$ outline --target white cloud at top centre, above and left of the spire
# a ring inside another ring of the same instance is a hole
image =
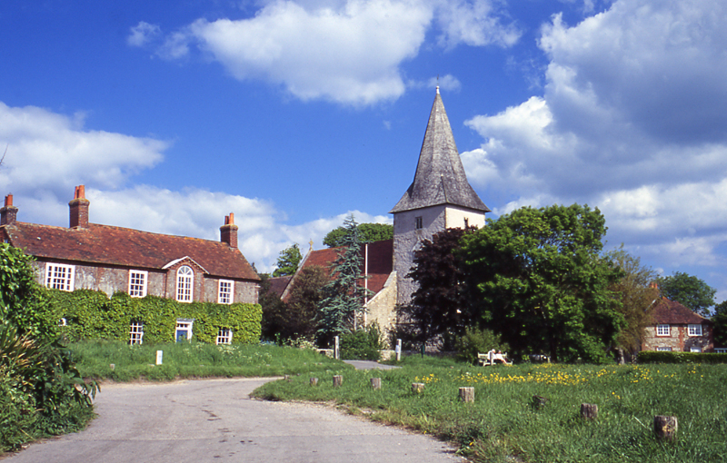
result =
[[[493,5],[489,0],[271,1],[246,19],[198,19],[168,35],[156,54],[178,59],[194,47],[238,80],[281,85],[304,101],[366,105],[403,94],[401,66],[419,53],[434,17],[443,46],[512,45],[520,33],[501,24]],[[134,34],[144,36],[135,28]],[[458,87],[449,77],[443,85]]]

